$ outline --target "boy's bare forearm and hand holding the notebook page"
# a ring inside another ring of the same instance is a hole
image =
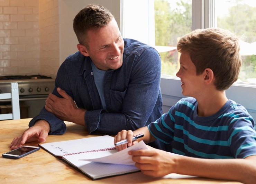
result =
[[[245,159],[199,159],[157,149],[131,151],[129,154],[133,156],[135,166],[146,175],[177,173],[242,183],[256,181],[256,155]]]

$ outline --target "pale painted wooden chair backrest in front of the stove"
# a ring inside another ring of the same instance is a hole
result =
[[[0,94],[0,100],[11,99],[12,113],[0,114],[0,120],[20,119],[19,88],[17,82],[11,83],[11,93]]]

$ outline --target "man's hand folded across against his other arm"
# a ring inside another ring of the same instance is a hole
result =
[[[57,88],[57,91],[63,98],[50,93],[45,101],[45,109],[62,121],[70,121],[85,126],[84,113],[86,110],[78,109],[71,96],[61,88]]]

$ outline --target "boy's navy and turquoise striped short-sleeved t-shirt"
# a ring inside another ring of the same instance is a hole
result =
[[[228,100],[214,115],[197,115],[197,101],[181,99],[158,120],[148,125],[158,140],[172,144],[180,155],[231,159],[256,155],[255,122],[240,104]]]

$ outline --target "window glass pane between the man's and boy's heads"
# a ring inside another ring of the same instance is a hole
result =
[[[177,41],[192,31],[192,0],[155,0],[155,45],[161,55],[162,75],[179,69]]]

